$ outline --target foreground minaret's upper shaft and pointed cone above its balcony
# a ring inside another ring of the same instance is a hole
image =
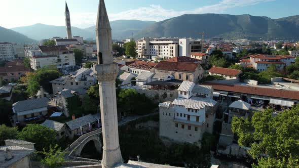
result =
[[[99,0],[95,30],[98,64],[113,64],[111,27],[104,0]]]

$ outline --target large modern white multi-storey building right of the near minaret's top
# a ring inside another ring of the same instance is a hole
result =
[[[141,38],[137,41],[139,58],[165,60],[173,57],[190,57],[193,52],[201,52],[201,41],[192,38]]]

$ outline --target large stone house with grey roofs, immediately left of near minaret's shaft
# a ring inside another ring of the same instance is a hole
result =
[[[52,83],[53,94],[56,94],[64,89],[88,90],[90,86],[95,85],[96,81],[97,80],[92,69],[81,68],[77,71],[71,72],[67,76],[54,79],[50,81],[50,83]]]

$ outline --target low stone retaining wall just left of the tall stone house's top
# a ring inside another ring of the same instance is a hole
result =
[[[172,102],[178,97],[177,90],[136,90],[139,94],[144,94],[146,97],[152,98],[157,102]],[[167,94],[167,97],[163,100],[162,95]],[[159,99],[157,97],[159,96]]]

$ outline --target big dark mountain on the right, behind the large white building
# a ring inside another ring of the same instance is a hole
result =
[[[299,16],[280,19],[251,15],[193,14],[174,17],[143,29],[134,35],[147,37],[197,37],[226,39],[299,39]]]

